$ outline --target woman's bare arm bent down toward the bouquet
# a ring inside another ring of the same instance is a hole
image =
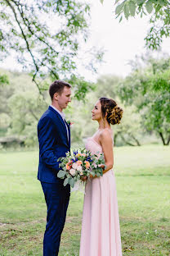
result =
[[[114,151],[113,151],[113,143],[112,143],[112,138],[110,136],[110,131],[103,130],[99,137],[99,141],[101,143],[101,147],[105,157],[106,168],[103,171],[103,173],[105,173],[114,166]]]

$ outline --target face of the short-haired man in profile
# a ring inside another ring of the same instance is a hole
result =
[[[71,102],[71,88],[65,86],[61,94],[57,94],[58,105],[61,109],[67,107]]]

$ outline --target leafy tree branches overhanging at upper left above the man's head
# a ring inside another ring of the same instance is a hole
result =
[[[1,60],[11,51],[16,53],[40,93],[47,89],[47,83],[42,83],[47,77],[70,79],[76,73],[78,43],[87,40],[89,11],[86,3],[75,0],[2,0]],[[93,55],[101,60],[101,52]]]

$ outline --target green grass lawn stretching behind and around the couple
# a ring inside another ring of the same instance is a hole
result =
[[[123,256],[170,255],[170,147],[114,149]],[[0,256],[42,256],[38,152],[0,153]],[[60,256],[78,256],[83,194],[71,194]]]

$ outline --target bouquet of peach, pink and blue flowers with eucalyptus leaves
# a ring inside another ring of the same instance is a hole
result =
[[[58,158],[57,161],[62,168],[57,176],[65,180],[64,185],[69,184],[72,188],[77,181],[82,181],[82,177],[103,176],[101,165],[105,166],[105,159],[102,153],[92,154],[86,149],[78,149],[66,153],[65,157]]]

